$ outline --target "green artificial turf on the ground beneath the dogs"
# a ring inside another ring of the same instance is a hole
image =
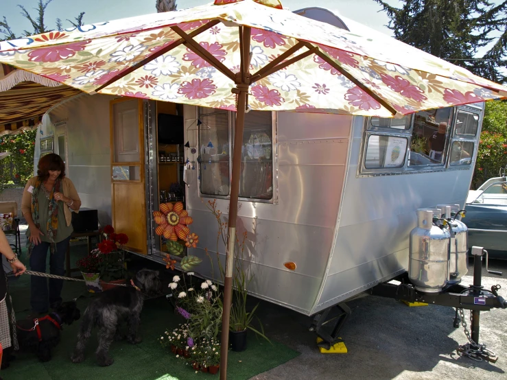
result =
[[[72,248],[72,259],[82,255],[82,247]],[[12,281],[10,291],[16,316],[24,318],[30,308],[30,278],[23,275]],[[84,283],[66,281],[62,292],[64,300],[78,298],[78,307],[84,312],[93,294],[87,293]],[[143,342],[137,345],[126,341],[113,342],[110,356],[115,363],[106,368],[97,366],[95,349],[97,348],[96,330],[86,347],[86,359],[81,364],[73,364],[69,359],[75,346],[78,323],[64,326],[62,341],[53,351],[53,359],[40,363],[34,355],[16,354],[10,368],[2,370],[5,380],[15,379],[145,379],[145,380],[182,380],[182,379],[218,379],[218,375],[198,372],[185,364],[185,359],[176,358],[169,348],[163,348],[158,339],[167,329],[174,329],[182,322],[174,314],[165,298],[155,298],[145,302],[141,314],[141,335]],[[278,343],[257,339],[253,333],[248,336],[248,348],[242,353],[229,351],[228,379],[241,380],[270,370],[293,359],[299,353]]]

